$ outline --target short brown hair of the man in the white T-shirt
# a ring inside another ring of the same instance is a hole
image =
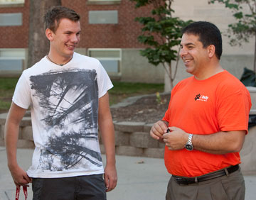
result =
[[[54,6],[48,10],[43,17],[45,29],[49,28],[50,30],[53,30],[53,33],[55,33],[60,24],[60,19],[62,18],[68,18],[71,21],[80,20],[79,14],[72,9],[68,9],[64,6]]]

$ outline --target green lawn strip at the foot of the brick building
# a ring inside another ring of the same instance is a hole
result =
[[[11,97],[18,78],[0,78],[0,110],[7,111],[11,106]],[[129,96],[153,94],[164,91],[164,84],[113,82],[110,89],[110,105],[117,104]]]

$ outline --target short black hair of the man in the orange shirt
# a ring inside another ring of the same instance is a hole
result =
[[[215,55],[220,60],[223,49],[221,33],[217,26],[207,21],[197,21],[183,28],[182,34],[184,33],[198,35],[199,41],[203,43],[203,48],[214,45]]]

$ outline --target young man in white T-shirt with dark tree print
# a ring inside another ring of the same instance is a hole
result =
[[[78,13],[56,6],[44,19],[49,53],[21,75],[6,120],[9,170],[16,187],[32,182],[35,200],[106,199],[106,191],[117,184],[107,93],[112,82],[98,60],[74,52],[80,40]],[[28,106],[36,148],[32,165],[24,172],[16,160],[16,143]],[[98,124],[106,150],[105,170]]]

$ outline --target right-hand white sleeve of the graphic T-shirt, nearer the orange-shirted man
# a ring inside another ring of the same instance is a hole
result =
[[[99,98],[104,96],[109,89],[113,87],[113,84],[108,76],[106,70],[99,61],[99,72],[97,77],[97,84],[99,87]]]

